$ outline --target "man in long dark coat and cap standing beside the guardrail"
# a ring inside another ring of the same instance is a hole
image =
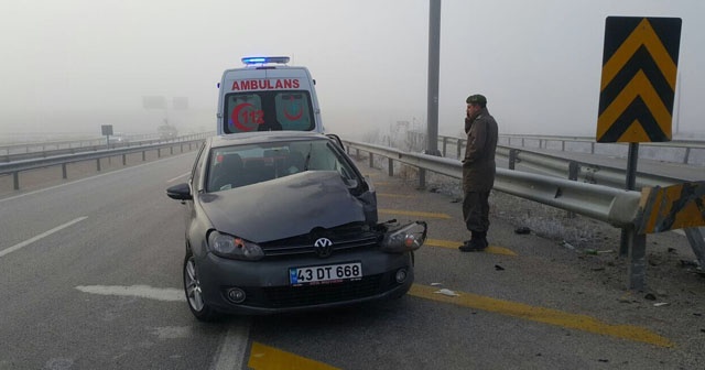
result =
[[[463,159],[463,218],[473,233],[458,249],[463,252],[487,248],[489,229],[489,192],[495,185],[495,150],[497,149],[497,121],[487,110],[487,98],[470,95],[466,100],[465,133],[467,146]]]

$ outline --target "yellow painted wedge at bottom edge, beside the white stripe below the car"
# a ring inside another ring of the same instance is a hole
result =
[[[264,369],[310,369],[310,370],[335,370],[329,364],[318,362],[299,355],[290,353],[273,347],[264,346],[260,342],[252,342],[250,349],[250,360],[248,367],[254,370]]]

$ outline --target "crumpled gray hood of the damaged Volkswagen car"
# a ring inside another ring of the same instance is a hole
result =
[[[365,221],[365,206],[334,171],[308,171],[198,196],[218,230],[265,242]]]

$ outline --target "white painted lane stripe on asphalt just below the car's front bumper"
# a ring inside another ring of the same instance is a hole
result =
[[[210,367],[213,370],[242,369],[247,345],[250,340],[250,318],[237,317],[228,327],[228,334],[223,338],[215,362]]]

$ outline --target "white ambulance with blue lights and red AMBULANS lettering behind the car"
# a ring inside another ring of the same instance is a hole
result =
[[[288,56],[243,57],[226,69],[218,95],[218,134],[250,131],[323,132],[315,80]]]

